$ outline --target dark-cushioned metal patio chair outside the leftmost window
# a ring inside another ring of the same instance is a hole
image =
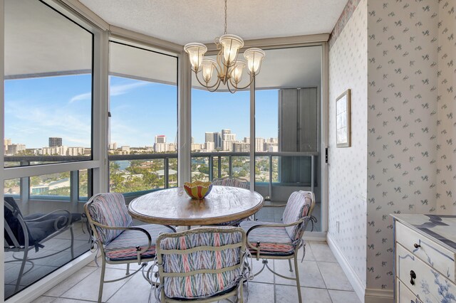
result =
[[[23,216],[14,198],[4,197],[4,251],[23,252],[21,257],[13,254],[14,260],[5,261],[5,263],[21,261],[14,292],[19,290],[22,277],[33,269],[33,260],[51,257],[68,249],[71,253],[71,259],[74,258],[73,223],[77,220],[81,220],[81,213],[70,213],[65,209],[58,209],[51,213],[33,213]],[[58,249],[57,252],[50,250],[40,257],[29,257],[30,250],[34,249],[35,252],[38,252],[38,250],[45,248],[46,241],[67,230],[70,230],[71,235],[68,247]],[[31,268],[25,270],[27,262],[31,265]]]

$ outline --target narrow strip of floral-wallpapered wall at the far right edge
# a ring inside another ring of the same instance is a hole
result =
[[[439,1],[437,212],[456,214],[456,0]]]

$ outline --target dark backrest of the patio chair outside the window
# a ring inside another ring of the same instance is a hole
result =
[[[4,197],[4,237],[5,249],[20,249],[28,240],[28,245],[34,245],[35,240],[27,228],[21,209],[13,197]],[[26,233],[24,232],[26,230]]]

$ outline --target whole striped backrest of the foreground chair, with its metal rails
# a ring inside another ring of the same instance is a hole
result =
[[[197,299],[229,291],[244,272],[242,228],[195,228],[157,238],[162,295]]]

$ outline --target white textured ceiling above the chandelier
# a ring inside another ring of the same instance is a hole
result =
[[[108,23],[174,43],[212,43],[223,0],[79,0]],[[228,0],[227,33],[244,40],[331,33],[347,0]]]

